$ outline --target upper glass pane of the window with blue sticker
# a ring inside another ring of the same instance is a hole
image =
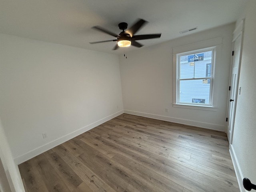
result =
[[[212,51],[180,56],[180,78],[211,76]]]

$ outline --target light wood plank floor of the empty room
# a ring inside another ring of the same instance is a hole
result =
[[[239,192],[224,132],[128,114],[19,169],[27,192]]]

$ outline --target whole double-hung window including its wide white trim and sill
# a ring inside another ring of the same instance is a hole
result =
[[[222,37],[172,48],[173,107],[217,110],[221,50]]]

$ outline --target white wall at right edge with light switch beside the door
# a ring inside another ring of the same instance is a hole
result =
[[[240,21],[239,21],[240,22]],[[244,42],[234,123],[231,153],[241,189],[242,179],[247,177],[256,184],[256,1],[250,0],[246,8]],[[242,190],[244,191],[244,189]]]

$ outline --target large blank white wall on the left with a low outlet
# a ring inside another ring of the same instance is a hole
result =
[[[0,116],[17,163],[123,112],[114,54],[0,34],[0,58]]]

